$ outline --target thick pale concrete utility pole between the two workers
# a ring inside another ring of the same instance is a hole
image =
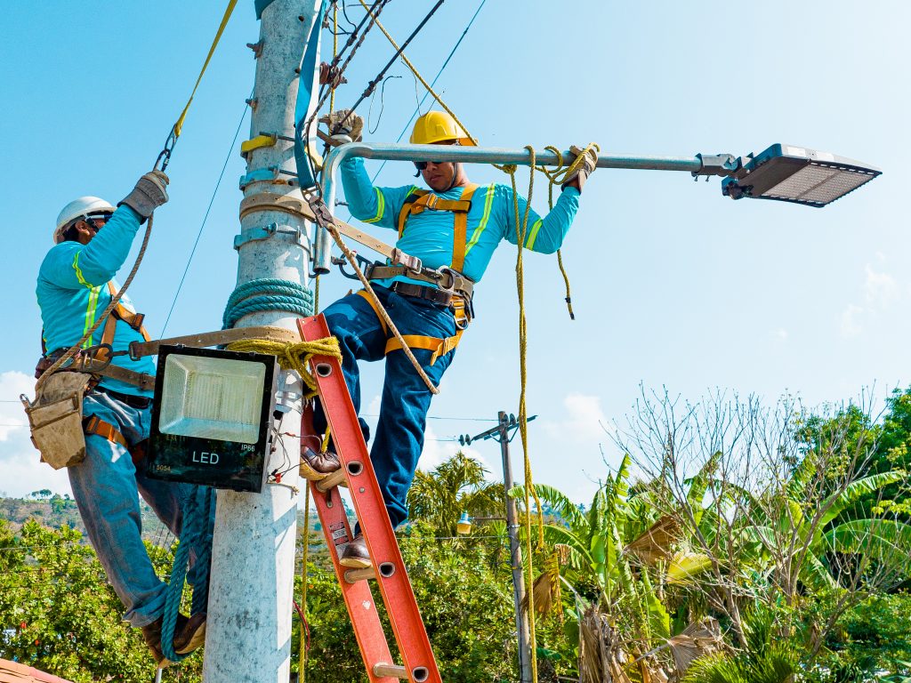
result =
[[[252,10],[253,3],[249,5]],[[301,66],[318,5],[318,0],[274,0],[262,11],[260,42],[252,46],[256,84],[251,101],[251,138],[261,132],[292,137],[298,91],[295,69]],[[270,167],[286,170],[289,175],[273,172],[272,178],[249,182],[243,189],[245,197],[268,192],[300,198],[296,180],[293,186],[288,182],[294,178],[295,169],[291,142],[279,138],[273,147],[256,148],[248,154],[248,174]],[[271,223],[280,226],[271,237],[241,244],[238,284],[281,278],[307,286],[309,246],[302,248],[293,232],[300,229],[302,241],[307,243],[307,226],[302,220],[268,208],[253,210],[241,219],[241,236]],[[283,230],[285,226],[292,230]],[[244,317],[239,326],[268,324],[296,329],[297,317],[283,311],[254,313]],[[281,377],[279,403],[293,410],[286,413],[280,431],[298,433],[300,380],[287,372]],[[283,461],[286,464],[281,468],[285,469],[289,459],[296,465],[300,458],[297,437],[278,438],[281,442],[276,440],[276,451],[267,465],[270,471]],[[282,482],[298,484],[296,466]],[[285,486],[267,485],[261,494],[219,491],[203,664],[206,683],[288,683],[297,502],[298,496]]]

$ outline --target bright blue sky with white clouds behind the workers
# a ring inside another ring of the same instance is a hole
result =
[[[402,40],[431,5],[394,0],[382,19]],[[477,5],[450,0],[415,39],[407,54],[425,76],[435,75]],[[222,9],[214,0],[5,7],[0,491],[68,491],[65,474],[37,464],[26,429],[16,426],[24,418],[14,403],[31,391],[40,333],[34,282],[56,214],[83,194],[117,201],[151,167]],[[438,82],[483,145],[597,141],[611,153],[739,156],[785,142],[884,170],[825,209],[733,202],[722,198],[717,179],[599,170],[564,247],[576,321],[565,311],[556,260],[526,260],[537,481],[588,499],[608,472],[604,459],[617,462],[602,425],[623,422],[640,383],[691,400],[720,388],[767,402],[791,392],[818,404],[874,384],[882,396],[911,382],[903,189],[911,151],[909,15],[911,5],[898,0],[488,0]],[[241,0],[169,167],[171,201],[157,214],[131,288],[153,334],[174,301],[251,92],[254,63],[245,44],[258,32],[251,0]],[[324,39],[323,56],[331,49]],[[391,55],[379,32],[368,36],[336,106],[352,104]],[[415,109],[412,76],[401,64],[390,73],[401,77],[387,82],[383,103],[374,100],[370,140],[394,141]],[[368,107],[361,113],[366,117]],[[248,133],[249,119],[241,139]],[[231,240],[242,172],[235,147],[169,333],[220,327],[236,277]],[[469,168],[469,175],[506,181],[493,168]],[[388,164],[378,182],[411,180],[407,164]],[[536,186],[535,206],[546,209],[541,177]],[[508,245],[500,249],[477,288],[478,317],[435,399],[431,416],[441,419],[430,421],[431,439],[480,432],[497,410],[517,410],[515,256]],[[322,301],[349,287],[333,274],[323,281]],[[365,412],[376,412],[381,371],[364,375]],[[456,447],[428,441],[424,464]],[[499,472],[495,443],[477,444],[472,453]],[[520,471],[518,460],[515,466]]]

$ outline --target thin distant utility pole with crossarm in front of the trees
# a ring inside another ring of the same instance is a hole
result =
[[[507,415],[503,411],[496,413],[498,424],[486,432],[476,436],[459,437],[459,443],[467,445],[473,441],[483,439],[496,439],[500,443],[500,454],[503,457],[503,487],[507,493],[507,535],[509,536],[509,566],[513,573],[513,602],[516,607],[516,632],[518,634],[518,674],[521,683],[532,683],[531,679],[531,648],[529,642],[531,634],[528,630],[528,617],[522,611],[525,601],[525,575],[522,572],[522,546],[518,542],[518,523],[516,521],[516,502],[509,497],[509,490],[513,487],[512,460],[509,457],[509,432],[518,428],[515,415]],[[528,418],[531,422],[537,417]]]

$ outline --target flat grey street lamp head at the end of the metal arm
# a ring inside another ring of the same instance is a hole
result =
[[[732,199],[775,199],[824,207],[882,173],[879,168],[828,152],[773,145],[741,158],[740,168],[722,180]]]

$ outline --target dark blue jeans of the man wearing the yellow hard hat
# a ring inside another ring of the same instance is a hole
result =
[[[377,297],[383,303],[395,327],[402,334],[418,334],[445,339],[455,334],[455,316],[445,306],[414,297],[404,297],[385,287],[374,285]],[[398,350],[385,355],[386,334],[370,304],[357,294],[335,301],[323,311],[329,331],[338,338],[342,349],[342,371],[354,410],[361,412],[361,379],[358,361],[386,359],[383,397],[380,418],[376,425],[374,445],[370,460],[374,464],[376,479],[383,492],[386,510],[393,528],[408,518],[405,500],[408,488],[415,478],[417,461],[424,449],[424,432],[427,411],[433,394],[414,366]],[[440,378],[453,361],[455,350],[436,359],[431,365],[433,352],[414,349],[415,358],[421,363],[430,380],[438,385]],[[322,410],[317,406],[313,415],[317,432],[326,427]],[[361,420],[364,439],[369,431]]]

